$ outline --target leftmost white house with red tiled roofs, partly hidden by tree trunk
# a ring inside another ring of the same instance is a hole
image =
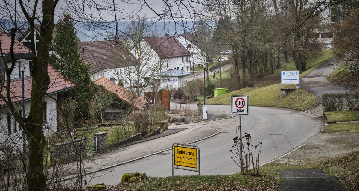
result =
[[[14,57],[16,59],[14,69],[10,75],[10,80],[6,79],[6,68],[11,66],[10,45],[11,38],[9,34],[0,31],[1,43],[1,66],[0,75],[2,84],[0,98],[0,141],[12,138],[13,141],[19,140],[22,137],[22,132],[19,129],[15,118],[10,112],[9,104],[12,104],[19,113],[22,113],[22,93],[24,91],[24,109],[25,116],[28,115],[30,109],[32,78],[30,76],[31,70],[31,51],[22,43],[15,40],[14,42]],[[6,63],[4,63],[4,61]],[[22,84],[22,71],[24,70],[24,85]],[[47,72],[50,76],[50,84],[45,97],[46,111],[42,114],[44,117],[44,132],[51,133],[57,131],[57,95],[67,89],[76,87],[76,84],[67,80],[59,71],[54,69],[51,65],[47,66]],[[9,85],[9,88],[6,88]],[[10,100],[7,94],[10,95]],[[16,144],[16,143],[15,143]]]

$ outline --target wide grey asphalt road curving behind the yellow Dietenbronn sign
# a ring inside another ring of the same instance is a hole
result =
[[[197,107],[190,105],[189,107]],[[230,106],[208,106],[210,111],[230,111]],[[233,174],[239,171],[234,164],[232,153],[233,138],[239,135],[237,130],[239,117],[225,120],[200,122],[192,128],[218,129],[220,133],[193,143],[200,148],[201,175]],[[169,126],[184,128],[186,125]],[[249,115],[242,115],[242,135],[252,135],[252,144],[263,142],[260,153],[260,164],[270,162],[319,134],[324,121],[310,113],[283,108],[250,107]],[[171,148],[171,145],[168,145]],[[171,151],[155,154],[115,168],[107,169],[87,177],[90,184],[105,183],[115,185],[120,182],[122,174],[129,172],[146,173],[153,177],[166,177],[172,174]],[[191,175],[197,172],[174,169],[175,175]]]

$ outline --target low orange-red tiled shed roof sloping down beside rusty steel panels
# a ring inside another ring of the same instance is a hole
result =
[[[134,95],[134,94],[132,92],[130,92],[129,90],[127,90],[126,88],[123,88],[122,86],[116,84],[115,82],[113,82],[105,77],[101,77],[97,80],[94,80],[94,82],[97,85],[102,85],[108,91],[117,94],[118,99],[120,99],[121,101],[124,101],[124,102],[132,105],[132,102],[131,102],[132,96],[131,95]],[[133,97],[135,98],[136,96],[134,95]],[[137,97],[133,104],[137,110],[143,110],[144,107],[146,106],[146,103],[147,103],[147,101],[145,99],[143,99],[141,97]]]

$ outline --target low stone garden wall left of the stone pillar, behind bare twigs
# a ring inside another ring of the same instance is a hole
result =
[[[53,164],[79,160],[80,156],[87,156],[87,139],[75,139],[64,143],[52,145]]]

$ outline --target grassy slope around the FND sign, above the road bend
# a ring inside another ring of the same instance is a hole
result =
[[[322,53],[322,55],[318,55],[315,59],[310,59],[307,64],[307,66],[310,68],[301,73],[300,77],[303,78],[304,76],[308,75],[331,57],[332,55],[330,51],[325,51]],[[250,106],[276,106],[294,110],[307,110],[308,108],[314,107],[318,104],[316,96],[303,89],[299,89],[299,99],[297,91],[281,99],[280,83],[278,83],[280,81],[280,70],[295,70],[294,62],[285,64],[280,69],[275,70],[274,74],[268,75],[264,79],[261,79],[254,87],[247,87],[229,92],[228,94],[211,98],[207,100],[206,103],[230,105],[230,97],[232,95],[249,95]],[[292,88],[295,88],[295,85]]]

